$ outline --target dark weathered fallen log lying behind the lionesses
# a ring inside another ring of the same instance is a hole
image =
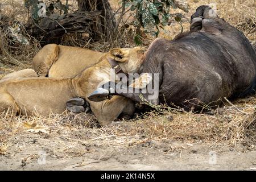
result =
[[[72,14],[60,15],[57,19],[45,17],[39,20],[39,23],[31,24],[26,27],[28,34],[43,44],[59,44],[62,36],[72,32],[82,32],[89,34],[90,37],[96,36],[94,31],[95,24],[100,18],[101,11],[78,12]]]

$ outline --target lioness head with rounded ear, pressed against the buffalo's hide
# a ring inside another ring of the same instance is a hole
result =
[[[144,63],[145,47],[110,49],[109,57],[118,61],[125,73],[137,73]]]

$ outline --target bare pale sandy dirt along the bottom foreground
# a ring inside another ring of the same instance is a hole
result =
[[[256,149],[218,143],[150,140],[136,146],[83,144],[58,152],[61,137],[24,134],[0,156],[2,170],[256,170]],[[109,138],[111,140],[111,138]]]

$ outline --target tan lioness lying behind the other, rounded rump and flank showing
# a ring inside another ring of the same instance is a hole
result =
[[[74,77],[97,63],[104,53],[90,49],[48,44],[33,58],[32,69],[39,77]]]

